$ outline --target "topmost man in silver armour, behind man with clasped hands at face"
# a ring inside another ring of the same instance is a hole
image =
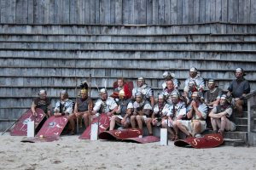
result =
[[[189,70],[189,78],[187,78],[184,82],[185,95],[189,93],[189,81],[191,80],[195,81],[197,91],[203,92],[205,88],[205,80],[202,77],[200,77],[195,67],[191,67]]]

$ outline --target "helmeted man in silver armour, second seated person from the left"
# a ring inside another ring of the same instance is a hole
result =
[[[74,134],[75,122],[73,120],[73,101],[68,99],[66,90],[62,90],[60,93],[60,100],[55,103],[54,116],[68,116],[69,129],[71,134]]]

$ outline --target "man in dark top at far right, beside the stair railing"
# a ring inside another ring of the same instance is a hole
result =
[[[235,106],[237,115],[242,116],[242,106],[245,105],[245,95],[249,94],[251,91],[249,82],[244,78],[246,76],[242,68],[237,68],[236,80],[230,82],[230,87],[228,88],[229,92],[228,97],[232,96],[232,104]]]

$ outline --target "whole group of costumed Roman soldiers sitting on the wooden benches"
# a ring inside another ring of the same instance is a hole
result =
[[[186,137],[199,138],[207,128],[208,117],[214,133],[224,135],[224,131],[236,130],[233,122],[234,110],[237,116],[242,116],[245,95],[250,92],[245,75],[242,68],[237,68],[236,79],[230,82],[225,93],[213,79],[207,81],[207,90],[205,79],[195,67],[189,69],[189,77],[183,84],[183,90],[180,90],[180,82],[174,75],[165,71],[163,90],[156,98],[154,90],[143,77],[137,79],[137,87],[133,89],[124,78],[118,78],[118,87],[113,89],[113,94],[108,95],[107,89],[102,88],[96,102],[89,98],[86,85],[80,90],[79,98],[75,102],[68,99],[66,90],[62,90],[53,113],[46,91],[40,90],[31,109],[35,116],[36,107],[43,109],[48,116],[67,115],[71,134],[75,133],[76,120],[83,118],[84,126],[88,127],[92,119],[106,113],[111,116],[109,130],[117,127],[143,129],[143,125],[146,125],[148,135],[153,135],[153,127],[166,127],[172,140],[179,139],[181,132]]]

